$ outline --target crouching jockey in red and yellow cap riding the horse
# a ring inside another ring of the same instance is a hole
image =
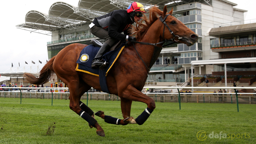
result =
[[[109,51],[116,40],[136,40],[130,36],[130,25],[142,19],[145,8],[139,2],[133,2],[128,9],[119,9],[95,18],[89,25],[93,35],[105,39],[106,42],[101,46],[95,58],[92,60],[92,68],[100,67],[103,69],[109,63],[102,59],[104,53]],[[121,34],[121,33],[124,34]]]

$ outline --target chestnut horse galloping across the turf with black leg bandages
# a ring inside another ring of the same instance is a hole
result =
[[[141,92],[149,68],[152,67],[155,46],[161,47],[162,41],[168,40],[178,41],[187,46],[197,42],[198,35],[172,16],[172,12],[173,9],[167,14],[166,6],[163,11],[152,7],[149,9],[149,20],[144,18],[143,23],[140,22],[133,28],[139,43],[130,43],[123,49],[106,77],[109,92],[118,95],[121,99],[123,119],[104,115],[103,111],[95,113],[105,122],[118,125],[127,125],[128,123],[142,125],[156,107],[154,100]],[[145,45],[145,43],[149,45]],[[40,85],[47,83],[51,79],[51,74],[55,72],[57,77],[69,87],[70,109],[84,118],[91,128],[97,128],[97,135],[105,136],[104,130],[94,118],[94,112],[80,101],[81,96],[90,88],[102,90],[99,77],[75,70],[76,60],[85,46],[87,45],[70,44],[66,46],[45,64],[38,78],[28,73],[25,73],[24,77],[29,83]],[[159,53],[156,58],[158,56]],[[136,119],[130,117],[133,101],[147,104],[147,108]]]

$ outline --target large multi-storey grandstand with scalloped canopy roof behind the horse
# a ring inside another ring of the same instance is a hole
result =
[[[244,21],[247,11],[234,8],[237,4],[231,1],[137,0],[146,9],[152,5],[160,9],[167,5],[168,10],[173,7],[173,16],[199,35],[193,46],[172,44],[164,47],[146,84],[175,85],[196,74],[247,75],[246,72],[251,71],[253,75],[256,72],[256,21]],[[89,30],[92,20],[115,9],[127,9],[132,2],[78,0],[77,6],[55,2],[48,14],[29,11],[25,23],[17,28],[51,35],[52,41],[47,42],[50,59],[69,44],[90,44],[91,39],[98,39]]]

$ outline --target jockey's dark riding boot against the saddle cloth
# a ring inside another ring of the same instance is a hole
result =
[[[109,51],[111,46],[109,46],[109,44],[102,44],[100,50],[98,51],[97,55],[95,56],[95,58],[92,60],[92,68],[97,68],[100,67],[101,69],[103,69],[104,67],[108,66],[109,63],[107,63],[105,60],[102,59],[102,56]]]

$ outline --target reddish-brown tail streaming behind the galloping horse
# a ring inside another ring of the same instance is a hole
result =
[[[52,74],[54,73],[52,64],[56,56],[52,57],[42,68],[40,71],[40,75],[38,78],[33,76],[33,74],[24,73],[24,78],[26,78],[26,81],[30,84],[45,84],[52,78]]]

